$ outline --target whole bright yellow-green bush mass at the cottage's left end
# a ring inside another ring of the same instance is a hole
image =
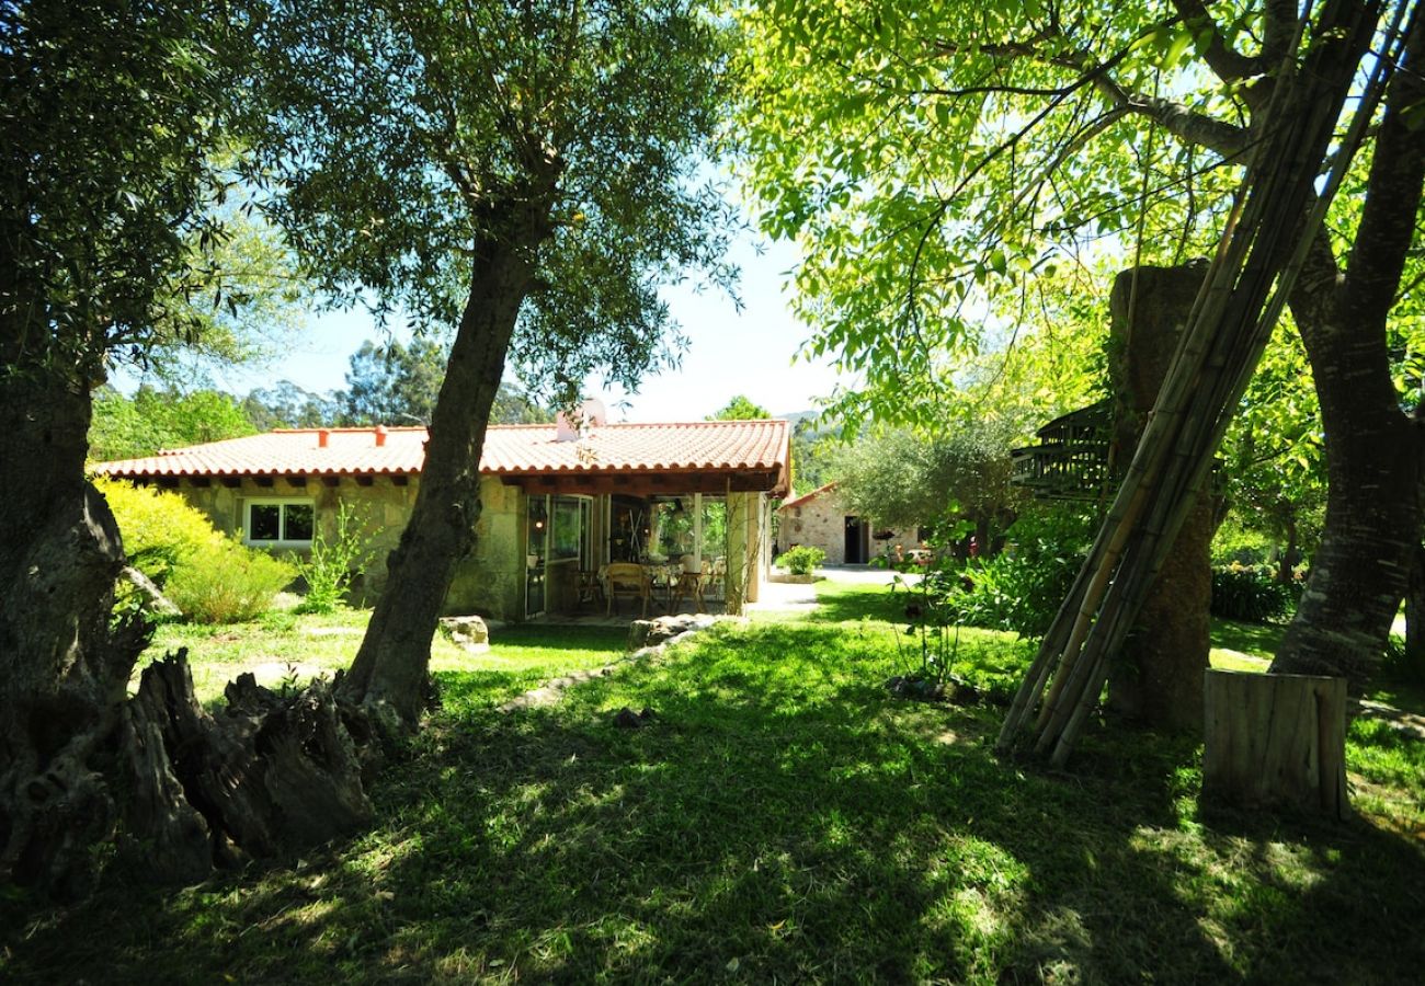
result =
[[[264,613],[292,581],[292,566],[244,547],[214,529],[181,496],[121,480],[95,480],[135,569],[198,623],[234,623]]]

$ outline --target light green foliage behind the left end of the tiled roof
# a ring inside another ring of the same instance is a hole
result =
[[[227,393],[141,386],[133,398],[125,398],[105,386],[94,395],[90,459],[138,459],[160,449],[235,439],[256,430],[242,405]]]

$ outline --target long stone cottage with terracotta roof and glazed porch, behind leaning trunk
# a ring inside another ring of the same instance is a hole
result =
[[[94,472],[180,493],[254,547],[302,553],[348,504],[372,563],[420,486],[425,427],[281,429],[107,462]],[[476,546],[447,613],[523,620],[587,603],[611,561],[708,560],[728,611],[755,601],[771,564],[771,500],[789,489],[785,420],[492,426],[480,459]]]

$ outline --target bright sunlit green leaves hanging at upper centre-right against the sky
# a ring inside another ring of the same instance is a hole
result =
[[[1235,97],[1141,44],[1173,33],[1171,14],[765,0],[738,16],[744,174],[762,229],[802,245],[808,353],[864,380],[834,405],[851,420],[933,423],[968,356],[1053,332],[1039,288],[1093,265],[1096,239],[1173,262],[1216,237],[1231,170],[1204,171],[1200,148],[1151,120],[1153,97],[1230,118]]]

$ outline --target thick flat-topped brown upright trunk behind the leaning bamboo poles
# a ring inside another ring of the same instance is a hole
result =
[[[1113,284],[1109,373],[1116,460],[1133,457],[1206,266],[1137,268]],[[1167,730],[1201,728],[1208,651],[1211,497],[1198,496],[1109,674],[1109,707]]]

